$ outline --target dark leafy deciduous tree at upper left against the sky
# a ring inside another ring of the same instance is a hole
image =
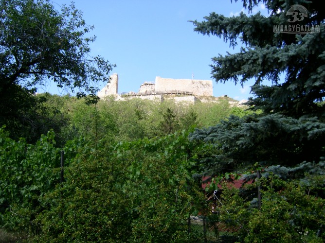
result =
[[[93,27],[73,4],[57,11],[49,0],[1,0],[0,9],[0,123],[33,123],[33,94],[50,81],[97,101],[95,84],[114,65],[91,57]]]

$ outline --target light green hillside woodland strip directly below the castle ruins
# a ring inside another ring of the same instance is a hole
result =
[[[222,99],[215,104],[108,99],[89,106],[83,100],[71,98],[68,104],[62,106],[61,113],[70,118],[65,128],[69,132],[65,133],[73,136],[93,139],[113,136],[118,140],[135,140],[161,137],[192,126],[211,126],[235,109]]]

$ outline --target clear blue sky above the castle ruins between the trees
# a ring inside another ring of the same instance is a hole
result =
[[[70,0],[52,0],[55,7],[70,4]],[[213,80],[211,58],[233,50],[229,43],[216,36],[193,31],[188,20],[202,21],[211,12],[226,17],[241,11],[242,1],[230,0],[75,0],[97,39],[91,44],[91,55],[101,55],[116,64],[112,73],[119,75],[118,92],[137,92],[144,81],[156,76],[175,79]],[[266,12],[263,5],[254,12]],[[240,46],[240,42],[238,43]],[[214,96],[228,95],[236,100],[250,97],[250,85],[242,88],[232,82],[216,83]],[[102,88],[106,84],[101,83]],[[56,87],[46,87],[60,93]]]

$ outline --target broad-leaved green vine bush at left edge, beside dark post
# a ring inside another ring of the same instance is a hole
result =
[[[60,150],[54,133],[42,135],[35,145],[14,141],[0,128],[0,225],[27,228],[39,206],[39,197],[58,182]]]

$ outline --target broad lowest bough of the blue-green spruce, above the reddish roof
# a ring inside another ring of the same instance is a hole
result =
[[[280,114],[231,116],[216,126],[197,130],[190,139],[202,139],[222,151],[206,164],[212,169],[210,174],[215,174],[222,168],[247,169],[255,162],[264,167],[294,167],[304,161],[322,161],[324,130],[325,123],[317,118],[294,119]]]

